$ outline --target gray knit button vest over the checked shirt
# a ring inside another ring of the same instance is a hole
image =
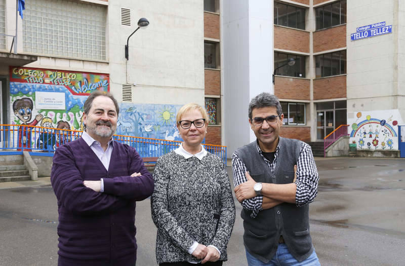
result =
[[[256,141],[237,149],[236,153],[256,182],[292,183],[294,165],[297,164],[302,142],[280,137],[279,145],[274,173],[258,153]],[[312,254],[308,204],[297,207],[285,202],[260,211],[255,218],[251,217],[251,213],[250,210],[242,209],[241,217],[244,219],[244,244],[254,257],[265,263],[270,261],[277,251],[280,235],[298,261]]]

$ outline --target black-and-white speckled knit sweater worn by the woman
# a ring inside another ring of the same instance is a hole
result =
[[[211,153],[185,159],[171,151],[157,160],[153,179],[157,263],[195,260],[187,252],[194,241],[217,247],[227,260],[235,205],[221,159]]]

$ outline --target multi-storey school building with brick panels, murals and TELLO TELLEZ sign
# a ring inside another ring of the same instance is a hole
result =
[[[180,140],[176,112],[197,102],[206,143],[229,158],[255,139],[248,104],[266,91],[281,136],[322,143],[349,125],[358,155],[398,157],[404,12],[400,0],[30,0],[20,15],[0,0],[0,124],[80,129],[100,89],[119,102],[118,134]]]

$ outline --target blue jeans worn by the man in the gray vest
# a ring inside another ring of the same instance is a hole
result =
[[[306,265],[306,266],[320,266],[318,257],[316,256],[315,250],[313,253],[301,262],[298,262],[293,255],[287,249],[286,244],[278,244],[277,252],[275,253],[274,257],[267,263],[264,263],[254,256],[252,256],[246,250],[246,258],[248,259],[249,266],[281,266],[281,265],[288,265],[288,266],[298,266],[298,265]]]

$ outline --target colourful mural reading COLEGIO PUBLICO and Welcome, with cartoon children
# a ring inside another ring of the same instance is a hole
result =
[[[108,74],[10,67],[11,124],[83,130],[87,96],[94,90],[109,91],[109,83]],[[49,143],[59,144],[46,131],[39,136],[27,130],[18,132],[18,143],[24,147],[46,149]]]

